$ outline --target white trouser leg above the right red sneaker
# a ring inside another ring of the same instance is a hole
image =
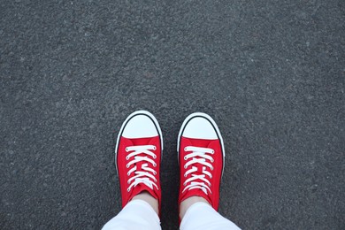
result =
[[[238,230],[233,222],[222,217],[211,205],[203,202],[194,203],[188,208],[180,223],[181,230]]]

